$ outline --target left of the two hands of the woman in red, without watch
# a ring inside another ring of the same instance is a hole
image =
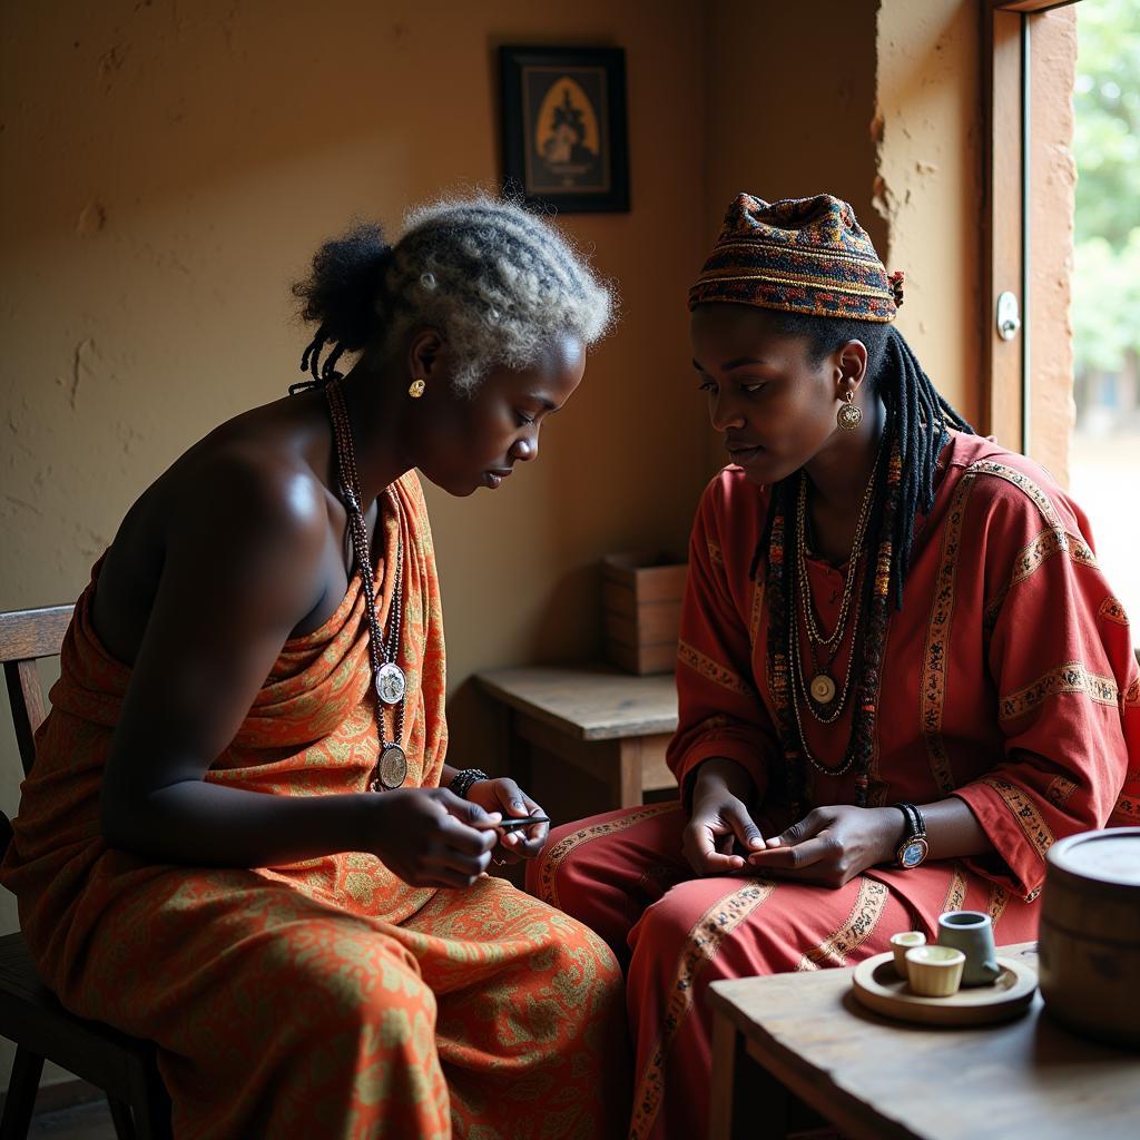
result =
[[[760,829],[748,812],[751,790],[751,777],[732,760],[709,759],[697,769],[693,808],[682,849],[698,874],[743,870],[744,856],[732,854],[736,841],[746,852],[764,847]]]

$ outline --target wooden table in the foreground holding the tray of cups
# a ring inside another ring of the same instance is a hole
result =
[[[1034,943],[999,953],[1036,967]],[[783,1137],[801,1105],[853,1140],[1140,1133],[1140,1053],[1054,1025],[1040,993],[1015,1021],[942,1028],[865,1011],[853,972],[711,984],[710,1140]]]

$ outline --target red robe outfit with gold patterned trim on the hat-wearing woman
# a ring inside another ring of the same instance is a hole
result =
[[[767,489],[735,466],[701,500],[668,754],[682,787],[710,757],[746,767],[762,799],[772,780],[762,816],[781,790],[768,764],[780,748],[763,560],[749,577],[767,507]],[[813,560],[809,575],[831,629],[842,570]],[[806,637],[801,652],[809,660]],[[849,653],[848,643],[840,679]],[[999,944],[1033,938],[1050,844],[1140,823],[1140,677],[1127,620],[1097,568],[1086,519],[1021,456],[951,433],[934,507],[915,521],[882,678],[869,803],[959,796],[995,854],[910,871],[877,866],[839,890],[749,874],[700,879],[681,854],[686,815],[663,804],[557,829],[531,869],[536,894],[628,962],[637,1052],[630,1137],[703,1133],[709,982],[849,964],[888,948],[899,930],[934,940],[946,910],[987,911]],[[832,725],[803,717],[825,763],[844,754],[853,703]],[[813,772],[814,801],[855,803],[854,781],[854,772]],[[787,822],[760,826],[772,834]]]

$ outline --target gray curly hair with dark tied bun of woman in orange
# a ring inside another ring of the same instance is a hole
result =
[[[466,393],[495,366],[534,364],[552,336],[595,343],[617,306],[613,288],[553,225],[483,195],[412,210],[394,246],[378,226],[355,226],[320,247],[293,292],[302,315],[319,321],[301,360],[315,380],[331,380],[345,351],[377,337],[386,349],[426,325],[451,347],[454,383]]]

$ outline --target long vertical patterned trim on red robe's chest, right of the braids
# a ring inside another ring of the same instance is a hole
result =
[[[950,755],[942,736],[942,714],[946,703],[946,660],[951,620],[954,614],[958,555],[962,543],[966,505],[974,486],[975,477],[967,472],[951,499],[946,529],[942,537],[942,555],[935,577],[934,602],[927,622],[927,642],[919,681],[919,730],[926,741],[930,773],[935,784],[944,792],[956,787]]]

